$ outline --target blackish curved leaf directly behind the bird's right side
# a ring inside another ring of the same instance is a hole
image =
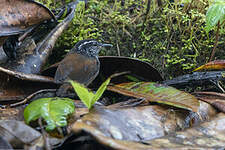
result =
[[[130,81],[162,81],[160,73],[149,63],[128,57],[121,56],[101,56],[100,72],[93,84],[102,83],[110,75],[129,71],[125,76],[112,79],[112,83],[124,83]],[[104,80],[103,80],[104,79]]]

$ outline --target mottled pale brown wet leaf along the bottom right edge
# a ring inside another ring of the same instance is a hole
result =
[[[108,149],[223,149],[225,147],[225,115],[220,113],[200,126],[179,131],[151,141],[132,142],[105,137],[101,133],[90,132],[95,140]]]

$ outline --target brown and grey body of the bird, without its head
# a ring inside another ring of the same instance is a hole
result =
[[[98,70],[99,62],[96,58],[69,54],[59,64],[55,81],[61,83],[70,79],[88,85],[97,76]]]

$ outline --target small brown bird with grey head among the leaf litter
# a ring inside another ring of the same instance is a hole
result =
[[[103,47],[112,45],[95,39],[81,40],[75,44],[58,64],[54,81],[63,85],[58,89],[57,95],[66,92],[68,80],[88,86],[96,78],[100,69],[98,54]]]

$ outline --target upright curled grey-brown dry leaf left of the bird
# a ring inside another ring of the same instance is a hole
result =
[[[39,39],[40,41],[37,41],[36,43],[34,38],[32,38],[32,35],[28,36],[18,47],[16,59],[14,61],[3,63],[1,66],[9,70],[27,74],[40,74],[40,70],[46,64],[56,40],[73,19],[77,4],[78,2],[70,3],[66,18],[49,32],[46,33],[45,28],[43,28],[42,31],[37,30],[36,33],[34,30],[33,34],[37,36],[34,36],[34,38],[39,39],[38,36],[44,33],[43,39]]]

